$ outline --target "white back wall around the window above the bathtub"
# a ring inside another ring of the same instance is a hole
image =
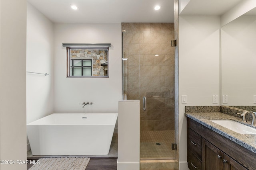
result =
[[[121,23],[54,23],[54,112],[118,112],[122,99]],[[62,43],[111,43],[109,78],[66,78]],[[93,102],[82,109],[82,102]]]

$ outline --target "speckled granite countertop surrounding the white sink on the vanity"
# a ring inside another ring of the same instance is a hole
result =
[[[250,134],[240,134],[236,133],[226,127],[218,125],[210,120],[213,119],[229,119],[233,121],[237,121],[239,123],[245,124],[242,122],[242,118],[234,117],[232,115],[228,115],[221,112],[198,112],[198,113],[185,113],[185,115],[192,120],[208,127],[214,132],[230,139],[231,141],[241,145],[242,147],[256,153],[256,135]],[[248,124],[246,124],[248,125]],[[252,125],[249,125],[253,127]],[[255,127],[256,128],[256,127]]]

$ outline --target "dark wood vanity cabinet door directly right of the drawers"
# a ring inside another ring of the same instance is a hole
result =
[[[202,169],[224,170],[224,153],[210,142],[202,139]]]

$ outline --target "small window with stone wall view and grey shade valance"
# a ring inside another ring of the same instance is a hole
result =
[[[66,47],[66,77],[109,77],[109,44],[72,44]]]

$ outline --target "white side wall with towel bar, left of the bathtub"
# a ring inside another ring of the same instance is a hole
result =
[[[53,23],[27,3],[27,123],[53,112]],[[28,141],[27,141],[28,143]],[[27,150],[29,150],[29,146]]]

